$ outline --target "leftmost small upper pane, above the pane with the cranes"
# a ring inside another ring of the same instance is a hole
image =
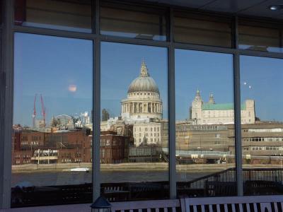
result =
[[[91,0],[16,0],[15,24],[91,33]]]

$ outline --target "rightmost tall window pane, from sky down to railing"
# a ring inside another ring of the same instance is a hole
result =
[[[283,60],[240,59],[244,194],[283,194]]]

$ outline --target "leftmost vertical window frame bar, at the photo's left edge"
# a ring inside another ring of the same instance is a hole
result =
[[[11,203],[11,141],[13,120],[13,1],[4,1],[4,30],[0,85],[0,208]]]

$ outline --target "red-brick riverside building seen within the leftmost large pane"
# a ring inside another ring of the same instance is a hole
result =
[[[12,164],[91,163],[90,131],[14,129]]]

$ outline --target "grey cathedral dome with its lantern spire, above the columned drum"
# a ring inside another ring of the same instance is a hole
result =
[[[134,81],[129,85],[128,93],[134,92],[155,92],[159,93],[159,89],[151,76],[149,76],[146,64],[142,61],[141,73],[139,77],[135,78]]]

